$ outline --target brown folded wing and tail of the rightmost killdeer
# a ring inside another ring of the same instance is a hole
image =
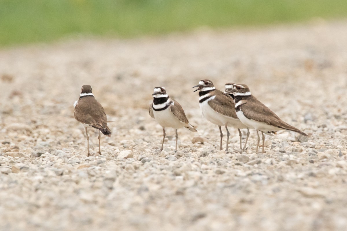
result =
[[[296,127],[293,127],[286,122],[282,121],[272,110],[262,104],[254,96],[251,96],[247,99],[247,103],[240,106],[243,114],[248,119],[253,119],[265,124],[272,125],[274,127],[279,127],[282,129],[294,131],[302,135],[308,136],[306,133],[300,131]]]

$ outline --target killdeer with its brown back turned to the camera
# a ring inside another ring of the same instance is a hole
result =
[[[82,93],[79,95],[79,99],[74,104],[75,118],[85,127],[87,136],[87,156],[90,156],[89,152],[89,136],[87,133],[88,127],[93,127],[99,130],[99,154],[100,151],[100,131],[102,134],[111,137],[111,130],[107,126],[107,116],[104,108],[96,101],[92,93],[92,87],[90,85],[82,86]]]

